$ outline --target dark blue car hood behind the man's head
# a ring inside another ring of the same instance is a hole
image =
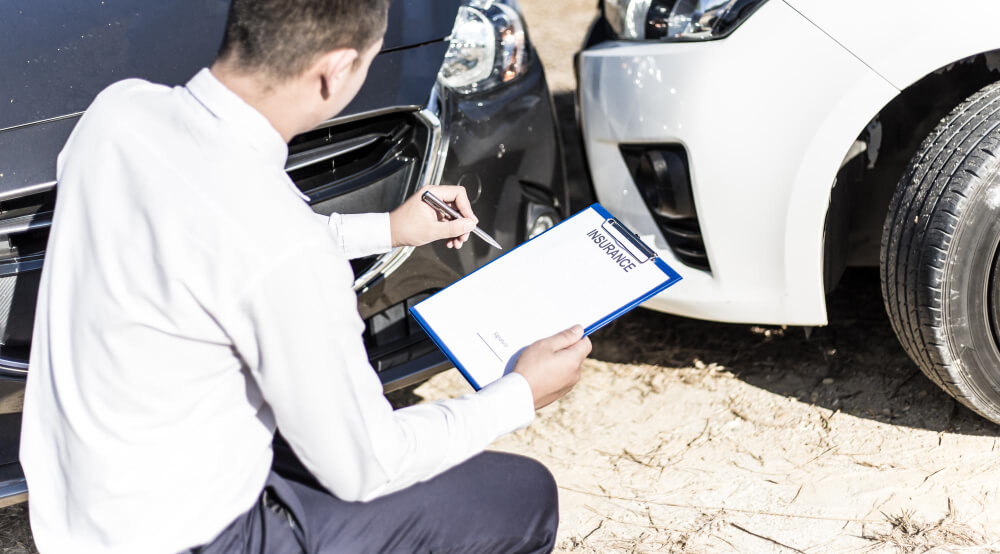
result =
[[[384,51],[440,41],[459,0],[393,0]],[[0,2],[0,130],[81,112],[107,85],[169,85],[211,63],[228,0]]]

